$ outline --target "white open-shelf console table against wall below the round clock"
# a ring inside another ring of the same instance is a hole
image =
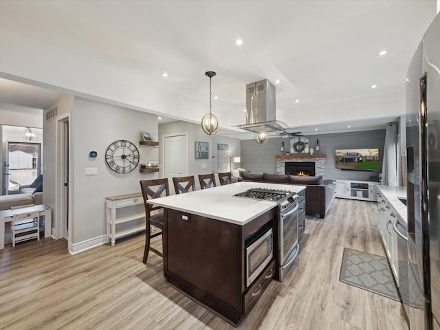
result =
[[[115,240],[145,230],[145,208],[142,193],[107,197],[107,237]]]

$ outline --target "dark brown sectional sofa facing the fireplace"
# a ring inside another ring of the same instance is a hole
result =
[[[331,202],[335,195],[336,186],[331,181],[322,179],[322,175],[298,176],[298,175],[276,175],[276,174],[254,174],[249,172],[241,173],[241,181],[271,182],[274,184],[295,184],[305,186],[305,212],[324,218],[330,209]]]

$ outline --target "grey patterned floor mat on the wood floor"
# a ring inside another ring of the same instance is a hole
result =
[[[386,256],[344,248],[339,281],[399,301]]]

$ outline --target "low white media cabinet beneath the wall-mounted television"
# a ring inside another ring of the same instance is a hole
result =
[[[335,197],[377,201],[376,184],[369,181],[334,180]]]

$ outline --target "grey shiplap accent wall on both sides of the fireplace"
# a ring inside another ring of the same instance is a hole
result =
[[[377,171],[340,170],[335,166],[335,149],[344,148],[379,148],[380,168],[384,155],[385,129],[349,133],[309,135],[311,148],[319,140],[320,150],[314,154],[325,154],[325,179],[354,179],[369,181],[371,176],[378,177]],[[254,140],[241,140],[241,167],[252,173],[276,173],[275,155],[282,155],[281,142],[288,151],[289,138],[270,138],[265,144]]]

